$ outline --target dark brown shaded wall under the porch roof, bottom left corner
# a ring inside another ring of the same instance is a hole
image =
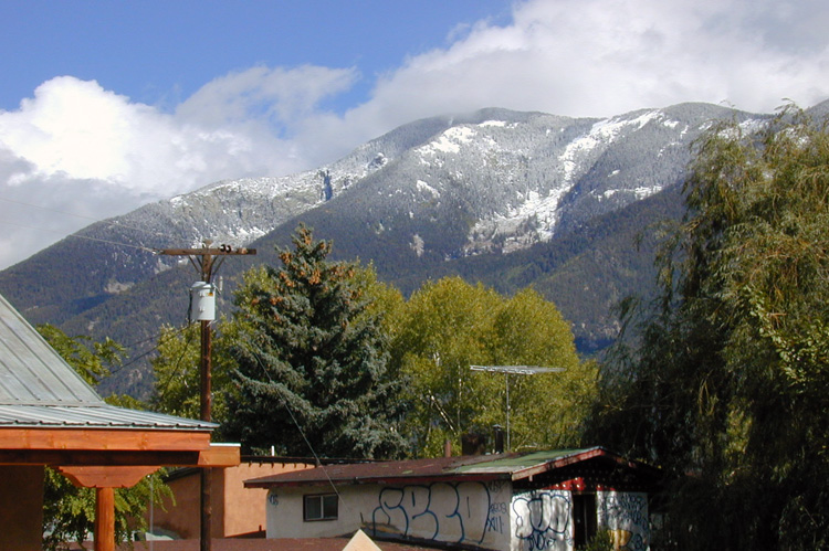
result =
[[[42,549],[42,466],[0,466],[0,549]]]

